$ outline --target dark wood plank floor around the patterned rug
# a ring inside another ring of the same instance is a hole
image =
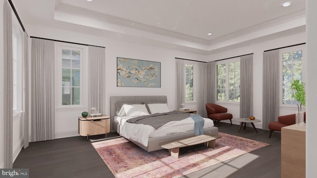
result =
[[[273,133],[271,138],[268,131],[258,129],[257,134],[253,128],[238,133],[239,126],[225,123],[218,129],[270,145],[183,178],[280,178],[280,133]],[[28,168],[30,178],[114,178],[90,141],[81,136],[31,142],[27,149],[21,150],[13,168]]]

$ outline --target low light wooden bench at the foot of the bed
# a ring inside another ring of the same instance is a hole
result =
[[[178,159],[179,148],[197,145],[201,143],[205,143],[206,146],[214,148],[216,139],[220,137],[221,136],[218,134],[210,134],[210,135],[201,134],[201,135],[183,137],[180,139],[163,142],[163,143],[160,143],[159,145],[162,148],[168,149],[169,154],[175,157],[176,159]]]

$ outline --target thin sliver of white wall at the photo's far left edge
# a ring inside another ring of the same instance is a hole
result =
[[[0,71],[3,71],[3,0],[0,0]],[[3,74],[0,75],[0,113],[3,113]],[[0,117],[0,168],[3,168],[3,117]]]

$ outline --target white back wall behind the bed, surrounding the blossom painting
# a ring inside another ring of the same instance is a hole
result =
[[[62,40],[81,44],[106,47],[106,112],[110,114],[109,98],[113,95],[167,95],[169,109],[175,109],[175,57],[206,61],[207,56],[171,50],[150,45],[101,38],[99,36],[44,28],[34,25],[26,26],[29,36]],[[126,57],[161,62],[160,88],[125,88],[116,87],[116,58]],[[89,80],[89,79],[88,79]],[[56,109],[55,137],[78,135],[78,116],[88,111],[87,106],[78,109]]]

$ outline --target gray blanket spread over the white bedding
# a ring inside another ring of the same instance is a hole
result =
[[[180,121],[190,117],[187,113],[181,111],[171,111],[166,113],[156,113],[151,115],[139,116],[127,120],[128,123],[145,124],[158,129],[170,121]]]

